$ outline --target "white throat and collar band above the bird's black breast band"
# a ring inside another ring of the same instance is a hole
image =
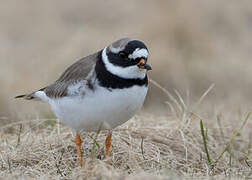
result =
[[[125,78],[125,79],[144,79],[145,75],[146,75],[146,69],[140,69],[137,65],[133,65],[133,66],[128,66],[128,67],[120,67],[120,66],[116,66],[114,64],[112,64],[111,62],[109,62],[108,56],[106,54],[106,48],[103,49],[102,51],[102,60],[105,64],[106,69],[116,75],[119,76],[121,78]]]

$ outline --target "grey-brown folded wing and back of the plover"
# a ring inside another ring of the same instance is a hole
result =
[[[100,52],[89,55],[68,67],[55,83],[41,89],[50,98],[58,98],[67,96],[67,88],[81,80],[87,78],[92,70]]]

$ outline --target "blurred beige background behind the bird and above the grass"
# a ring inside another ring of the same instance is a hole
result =
[[[207,107],[251,106],[252,2],[1,1],[0,121],[50,115],[43,103],[14,100],[52,83],[73,62],[122,37],[144,41],[150,77],[185,102],[215,84]],[[169,113],[151,85],[144,110]]]

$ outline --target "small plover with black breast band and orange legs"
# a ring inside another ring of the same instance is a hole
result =
[[[144,42],[122,38],[76,61],[54,83],[15,98],[48,103],[59,121],[75,130],[80,166],[80,134],[108,131],[105,162],[110,164],[113,129],[131,119],[146,98],[148,56]]]

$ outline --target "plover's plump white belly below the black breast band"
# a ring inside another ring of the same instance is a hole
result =
[[[113,129],[128,121],[143,105],[146,86],[109,91],[97,88],[84,95],[50,99],[54,113],[61,122],[81,131]]]

